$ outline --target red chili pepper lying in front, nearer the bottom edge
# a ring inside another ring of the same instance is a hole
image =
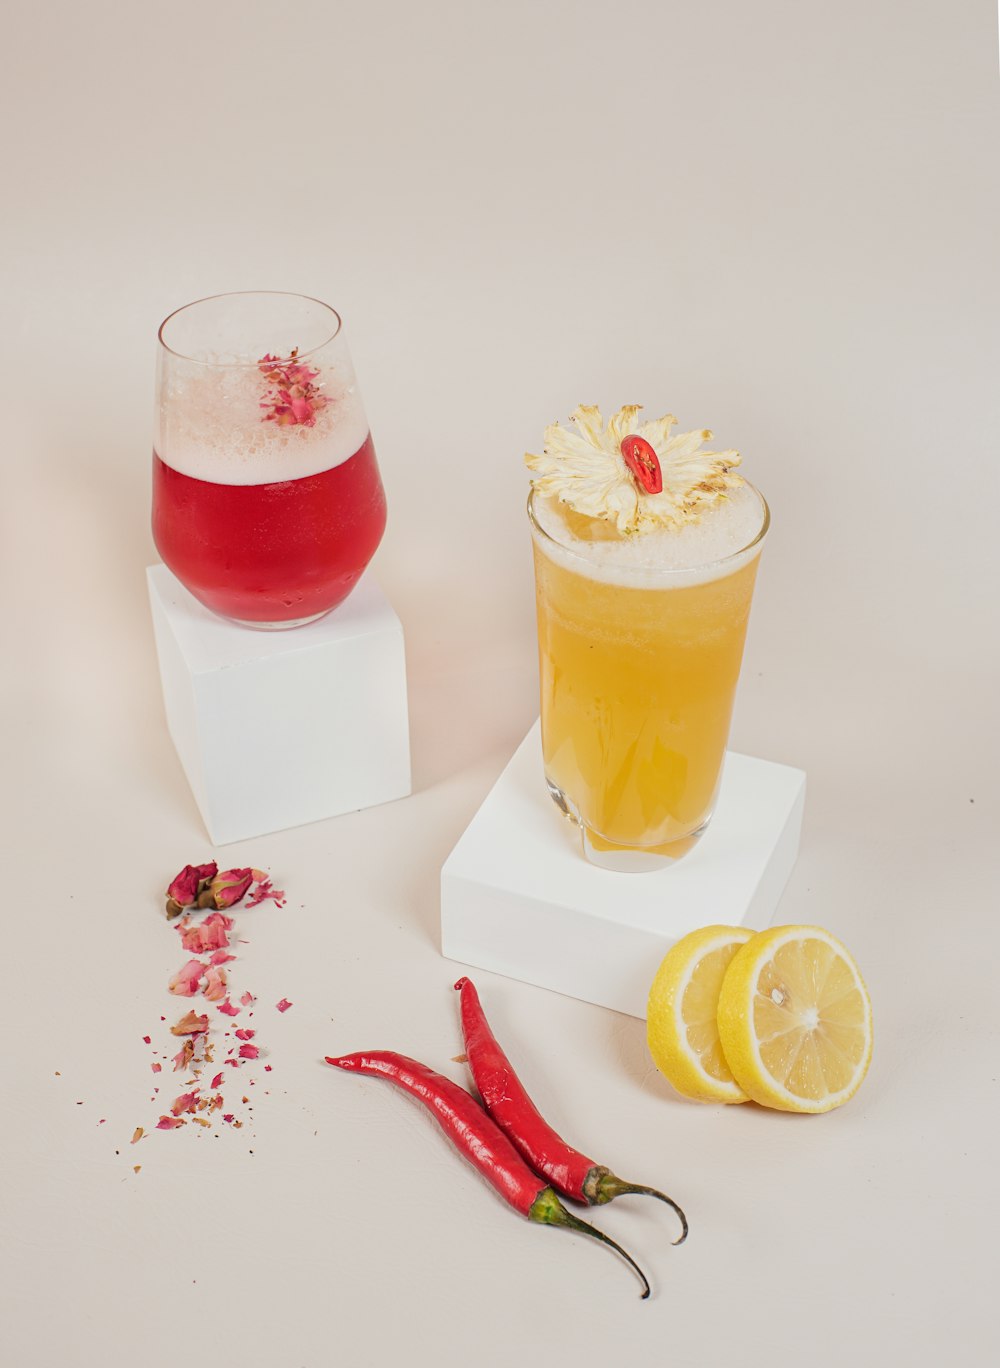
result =
[[[544,1185],[539,1186],[514,1146],[495,1122],[490,1120],[479,1103],[450,1078],[435,1074],[416,1059],[395,1055],[387,1049],[371,1049],[357,1055],[327,1055],[328,1064],[357,1074],[373,1074],[402,1088],[430,1111],[447,1138],[492,1183],[501,1197],[528,1220],[542,1226],[566,1226],[581,1235],[591,1235],[617,1250],[635,1268],[643,1283],[643,1298],[650,1295],[646,1274],[631,1254],[625,1253],[596,1226],[579,1220]]]

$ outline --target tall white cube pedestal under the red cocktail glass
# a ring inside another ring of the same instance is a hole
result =
[[[371,576],[317,622],[256,632],[146,572],[167,726],[216,845],[410,791],[402,627]]]

